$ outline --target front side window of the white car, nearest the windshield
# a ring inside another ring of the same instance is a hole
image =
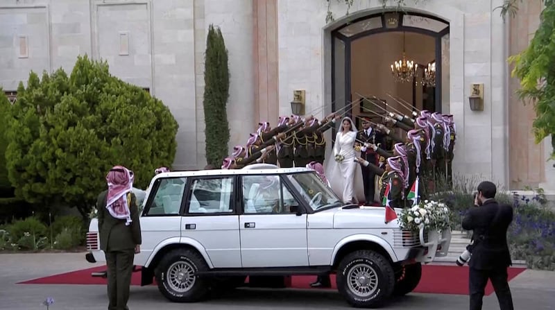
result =
[[[245,214],[291,213],[299,207],[279,175],[244,176],[243,205]]]

